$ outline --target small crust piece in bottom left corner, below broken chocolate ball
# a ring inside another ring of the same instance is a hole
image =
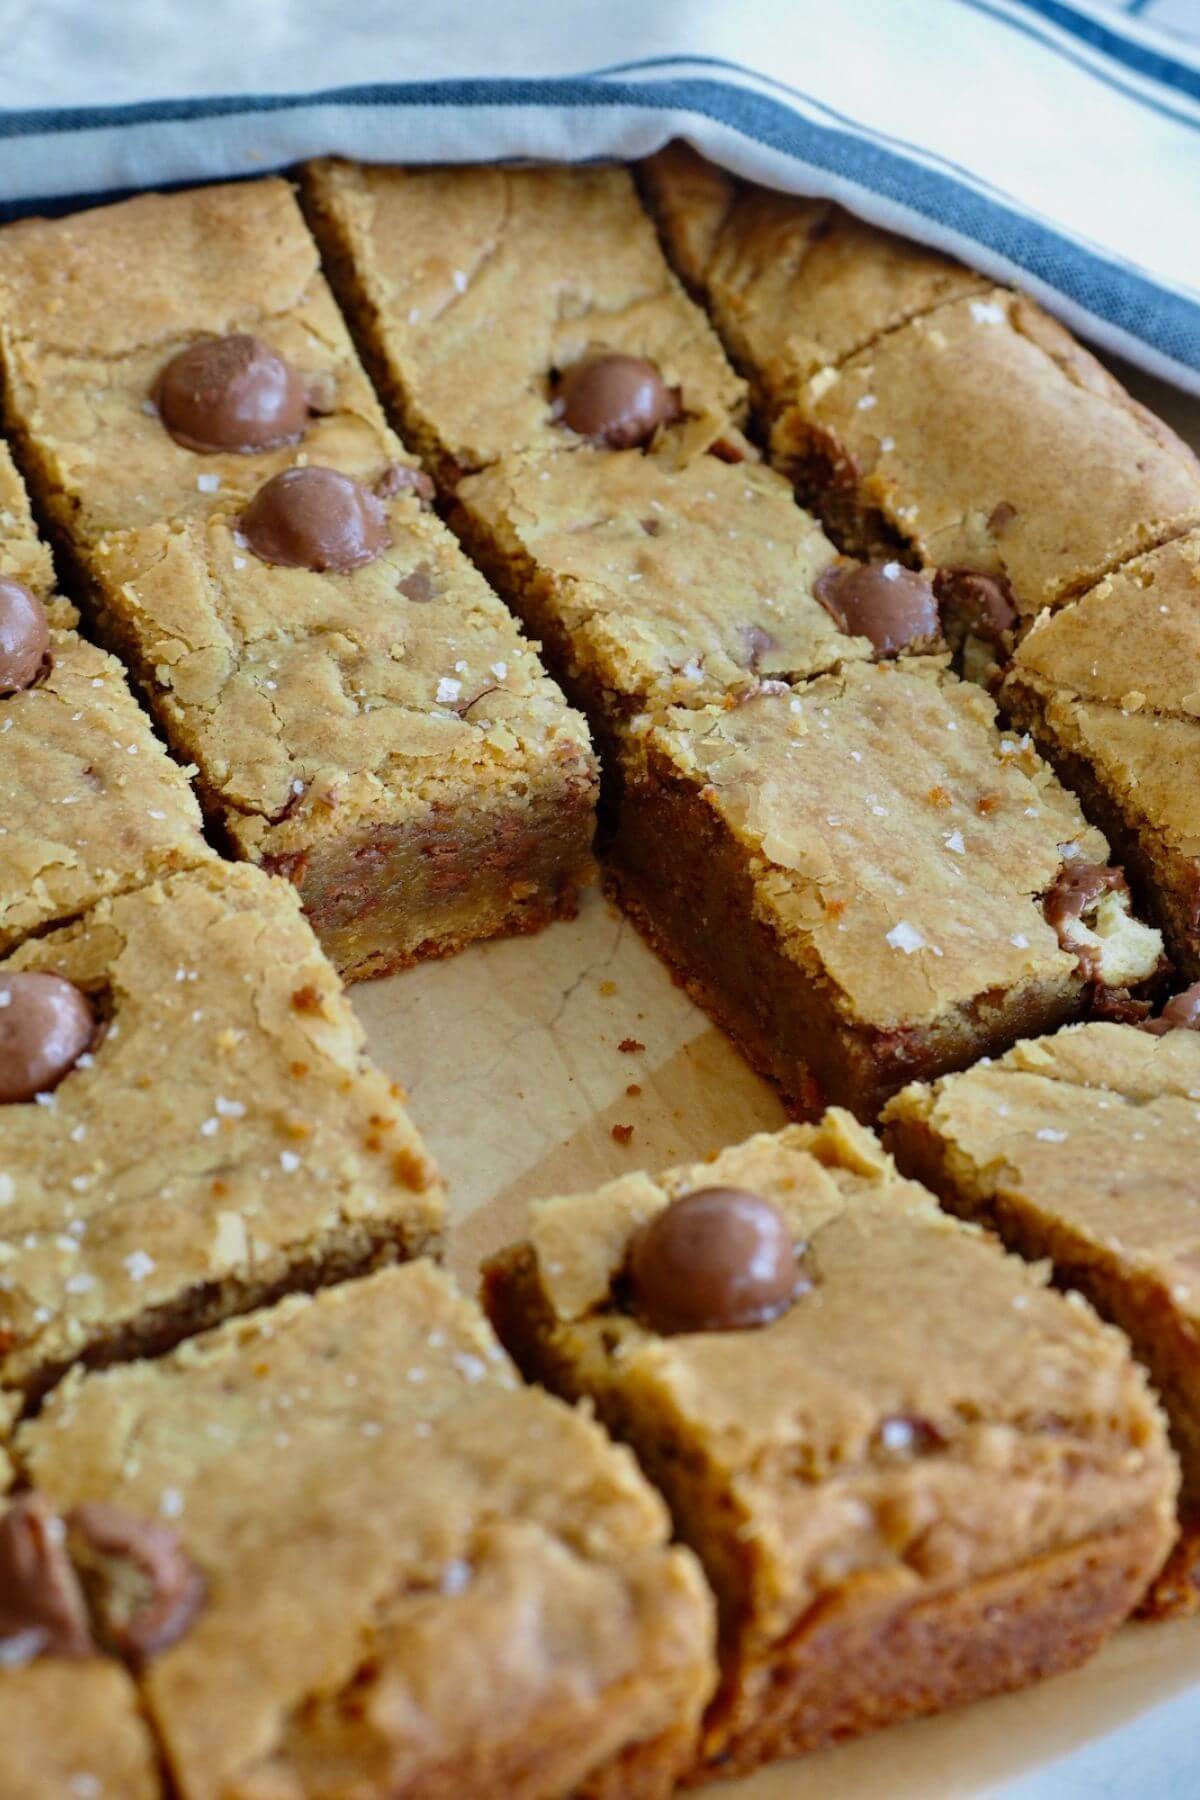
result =
[[[43,1658],[0,1670],[5,1800],[160,1800],[155,1746],[137,1690],[104,1658]]]

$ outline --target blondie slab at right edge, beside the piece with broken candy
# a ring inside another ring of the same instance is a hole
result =
[[[1200,531],[1038,619],[1002,704],[1117,846],[1178,967],[1200,976]]]

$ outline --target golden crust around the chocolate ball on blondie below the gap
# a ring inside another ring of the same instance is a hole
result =
[[[756,1332],[657,1337],[613,1280],[646,1219],[711,1184],[779,1206],[813,1285]],[[1177,1471],[1121,1336],[941,1213],[842,1112],[534,1202],[489,1282],[524,1364],[633,1444],[705,1564],[725,1667],[711,1753],[768,1703],[756,1676],[815,1607],[883,1616],[1141,1526],[1144,1584],[1169,1548]]]

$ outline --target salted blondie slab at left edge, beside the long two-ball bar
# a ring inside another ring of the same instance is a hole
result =
[[[16,666],[4,632],[14,599],[38,628],[40,666],[36,653]],[[0,445],[0,950],[212,855],[185,772],[76,625]]]

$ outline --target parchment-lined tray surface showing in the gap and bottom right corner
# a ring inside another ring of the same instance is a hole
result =
[[[1200,448],[1200,401],[1117,369]],[[453,1273],[520,1237],[531,1199],[664,1168],[784,1112],[599,891],[534,938],[358,986],[354,1008],[450,1184]],[[624,1048],[622,1048],[624,1046]],[[631,1134],[630,1134],[631,1127]],[[1024,1694],[725,1782],[730,1800],[1200,1795],[1200,1618],[1128,1625]]]

